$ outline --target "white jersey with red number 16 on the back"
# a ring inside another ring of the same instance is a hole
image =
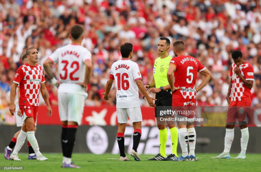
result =
[[[117,87],[117,108],[140,107],[139,90],[135,80],[142,79],[137,63],[128,59],[116,61],[111,65],[111,79]]]

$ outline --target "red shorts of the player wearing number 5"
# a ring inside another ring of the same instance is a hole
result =
[[[194,118],[196,114],[196,99],[173,98],[172,110],[179,116]]]

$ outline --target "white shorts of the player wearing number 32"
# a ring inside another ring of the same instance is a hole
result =
[[[61,121],[82,122],[84,95],[58,92],[58,108]]]

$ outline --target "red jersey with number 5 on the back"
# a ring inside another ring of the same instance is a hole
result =
[[[196,98],[196,75],[205,69],[198,59],[192,56],[177,56],[172,58],[170,65],[175,65],[174,86],[182,87],[173,93],[173,98]]]

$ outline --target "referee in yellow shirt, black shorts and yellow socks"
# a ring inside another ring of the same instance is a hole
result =
[[[167,72],[170,65],[172,56],[168,54],[170,49],[170,40],[166,37],[161,37],[157,45],[158,53],[160,57],[155,60],[153,67],[153,77],[150,83],[146,84],[146,89],[150,89],[150,92],[156,94],[155,101],[155,117],[157,118],[157,127],[159,128],[159,142],[160,153],[155,158],[149,160],[174,160],[177,159],[177,143],[178,143],[178,131],[175,127],[175,123],[168,121],[168,127],[170,129],[170,136],[172,142],[172,153],[166,157],[166,143],[168,140],[168,131],[166,129],[166,122],[162,121],[162,114],[159,114],[160,110],[170,109],[172,110],[172,92],[168,83]],[[171,118],[165,116],[165,118]]]

